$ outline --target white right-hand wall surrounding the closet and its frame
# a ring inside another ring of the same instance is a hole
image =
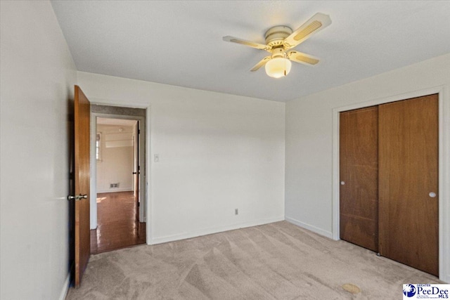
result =
[[[333,237],[333,113],[339,107],[401,98],[436,86],[442,91],[441,278],[449,282],[450,54],[286,103],[285,218]]]

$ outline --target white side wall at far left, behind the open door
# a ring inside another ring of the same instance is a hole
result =
[[[77,73],[49,1],[0,1],[0,11],[0,298],[61,299]]]

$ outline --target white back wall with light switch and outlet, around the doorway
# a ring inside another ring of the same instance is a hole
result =
[[[284,219],[284,103],[86,72],[78,79],[91,102],[148,107],[149,243]]]

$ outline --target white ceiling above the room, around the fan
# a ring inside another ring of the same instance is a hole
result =
[[[287,101],[450,53],[450,1],[52,1],[77,70]],[[274,25],[333,23],[295,47],[288,77],[250,68]]]

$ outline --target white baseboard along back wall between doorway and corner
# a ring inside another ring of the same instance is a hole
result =
[[[205,228],[202,230],[196,230],[191,233],[180,233],[178,235],[167,235],[165,237],[156,237],[156,238],[151,239],[150,241],[147,241],[147,244],[162,244],[164,242],[173,242],[176,240],[186,240],[186,239],[190,239],[192,237],[200,237],[202,235],[211,235],[213,233],[221,233],[224,231],[235,230],[235,229],[239,229],[239,228],[259,226],[259,225],[274,223],[274,222],[278,222],[278,221],[284,221],[284,216],[280,216],[278,218],[236,223],[236,224],[231,224],[231,225],[221,226],[221,227],[216,227],[216,228]]]

